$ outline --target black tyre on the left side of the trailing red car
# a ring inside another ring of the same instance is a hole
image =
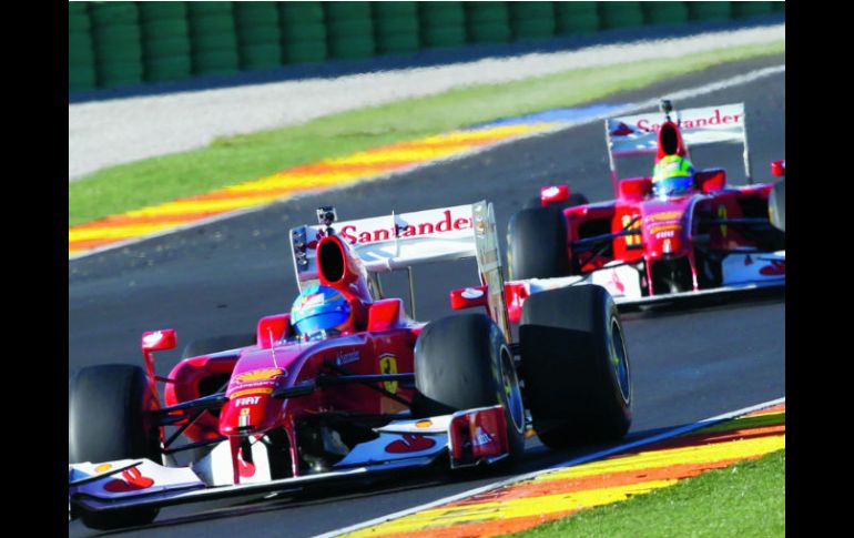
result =
[[[532,207],[510,217],[507,261],[510,280],[551,278],[570,274],[567,224],[557,207]]]

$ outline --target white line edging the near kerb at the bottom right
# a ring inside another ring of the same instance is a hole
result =
[[[546,475],[546,474],[551,473],[551,471],[553,471],[556,469],[560,469],[560,468],[563,468],[563,467],[572,467],[572,466],[576,466],[576,465],[586,464],[586,463],[589,463],[589,461],[592,461],[592,460],[596,460],[596,459],[603,458],[606,456],[611,456],[611,455],[617,454],[617,453],[622,453],[622,451],[626,451],[626,450],[629,450],[629,449],[632,449],[632,448],[637,448],[637,447],[640,447],[640,446],[644,446],[644,445],[649,445],[649,444],[652,444],[652,443],[657,443],[659,440],[669,439],[671,437],[675,437],[675,436],[681,435],[681,434],[685,434],[685,433],[689,433],[689,432],[693,432],[695,429],[704,428],[704,427],[711,426],[713,424],[722,423],[722,422],[728,420],[730,418],[735,418],[738,416],[746,415],[748,413],[752,413],[754,410],[764,409],[766,407],[772,407],[772,406],[775,406],[777,404],[783,404],[783,403],[785,403],[785,397],[772,399],[772,400],[769,400],[769,402],[765,402],[765,403],[762,403],[762,404],[752,405],[750,407],[744,407],[743,409],[738,409],[738,410],[734,410],[734,412],[724,413],[723,415],[718,415],[718,416],[714,416],[714,417],[711,417],[711,418],[704,418],[704,419],[699,420],[699,422],[697,422],[694,424],[690,424],[690,425],[687,425],[687,426],[680,426],[680,427],[670,429],[668,432],[663,432],[661,434],[653,435],[651,437],[645,437],[643,439],[639,439],[639,440],[634,440],[634,441],[631,441],[631,443],[627,443],[624,445],[616,446],[613,448],[608,448],[606,450],[600,450],[600,451],[597,451],[597,453],[593,453],[593,454],[588,454],[588,455],[580,456],[580,457],[577,457],[577,458],[573,458],[573,459],[569,459],[567,461],[553,465],[553,466],[548,467],[546,469],[535,470],[535,471],[528,473],[526,475],[515,476],[512,478],[508,478],[508,479],[505,479],[505,480],[499,480],[499,481],[496,481],[496,483],[492,483],[492,484],[488,484],[486,486],[481,486],[479,488],[469,489],[468,491],[462,491],[461,494],[451,495],[449,497],[445,497],[445,498],[441,498],[441,499],[438,499],[438,500],[434,500],[431,503],[427,503],[427,504],[419,505],[419,506],[416,506],[416,507],[413,507],[413,508],[407,508],[405,510],[396,511],[396,512],[389,514],[387,516],[380,516],[380,517],[372,519],[369,521],[364,521],[364,522],[360,522],[360,524],[352,525],[349,527],[344,527],[344,528],[338,529],[338,530],[332,530],[332,531],[325,532],[323,535],[316,535],[314,538],[333,538],[335,536],[340,536],[343,534],[353,532],[355,530],[364,529],[366,527],[373,527],[375,525],[379,525],[379,524],[383,524],[383,522],[386,522],[386,521],[389,521],[389,520],[393,520],[393,519],[399,519],[399,518],[401,518],[404,516],[409,516],[409,515],[418,512],[418,511],[428,510],[428,509],[435,508],[437,506],[447,505],[449,503],[454,503],[454,501],[461,500],[461,499],[465,499],[465,498],[468,498],[468,497],[472,497],[475,495],[482,494],[482,493],[486,493],[486,491],[489,491],[489,490],[492,490],[492,489],[497,489],[497,488],[500,488],[500,487],[504,487],[504,486],[509,486],[511,484],[516,484],[516,483],[519,483],[519,481],[523,481],[523,480],[528,480],[528,479],[531,479],[531,478],[536,478],[536,477],[538,477],[540,475]]]

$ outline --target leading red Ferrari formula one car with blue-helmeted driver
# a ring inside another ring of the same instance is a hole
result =
[[[165,505],[512,463],[529,426],[552,447],[627,433],[632,389],[613,301],[601,286],[538,294],[512,343],[491,204],[337,224],[332,209],[318,215],[291,231],[299,296],[258,321],[251,342],[193,343],[162,377],[153,353],[175,347],[175,332],[149,332],[144,368],[71,377],[70,517],[141,525]],[[453,291],[453,306],[486,315],[418,323],[383,295],[383,272],[462,257],[477,258],[480,285]]]

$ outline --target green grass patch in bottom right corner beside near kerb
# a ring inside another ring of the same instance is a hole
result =
[[[623,503],[582,510],[514,538],[785,536],[785,450],[710,470]]]

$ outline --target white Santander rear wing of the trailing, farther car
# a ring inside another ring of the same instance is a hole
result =
[[[614,186],[619,181],[617,158],[655,153],[658,131],[664,119],[664,112],[648,112],[609,118],[604,121],[608,159]],[[689,148],[715,143],[741,143],[744,146],[744,174],[748,183],[752,183],[744,103],[674,110],[670,113],[670,119],[679,125],[682,140]]]

